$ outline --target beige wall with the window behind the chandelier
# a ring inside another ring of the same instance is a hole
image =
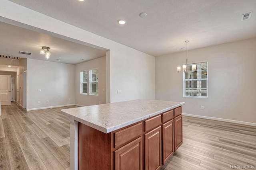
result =
[[[177,66],[186,62],[186,52],[156,57],[156,100],[185,102],[183,113],[256,123],[256,39],[188,51],[188,62],[203,60],[207,99],[182,97]]]

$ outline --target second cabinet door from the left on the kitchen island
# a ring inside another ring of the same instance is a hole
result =
[[[159,170],[162,166],[161,126],[146,133],[144,137],[145,137],[145,170]]]

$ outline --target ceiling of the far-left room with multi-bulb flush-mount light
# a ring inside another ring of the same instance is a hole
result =
[[[8,23],[0,22],[0,28],[1,55],[68,64],[78,64],[106,55],[106,51],[103,50],[17,27]],[[50,59],[45,59],[45,56],[39,53],[42,46],[50,47]],[[24,55],[20,54],[20,51],[32,54]]]

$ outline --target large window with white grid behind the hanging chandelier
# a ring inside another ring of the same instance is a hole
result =
[[[183,97],[208,98],[208,61],[188,64],[188,71],[183,72]]]

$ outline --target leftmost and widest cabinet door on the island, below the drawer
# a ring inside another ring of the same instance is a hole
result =
[[[142,137],[114,151],[115,170],[142,170]]]

